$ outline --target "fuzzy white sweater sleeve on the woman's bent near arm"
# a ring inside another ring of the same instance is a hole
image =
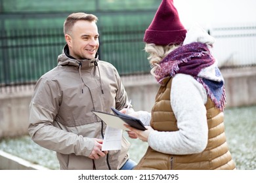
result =
[[[152,131],[148,144],[166,154],[194,154],[207,146],[207,93],[192,76],[177,74],[171,87],[171,107],[178,131]]]

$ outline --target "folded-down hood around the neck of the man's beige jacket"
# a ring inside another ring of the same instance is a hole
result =
[[[66,44],[62,50],[62,54],[58,56],[58,65],[72,65],[81,68],[92,67],[98,62],[98,53],[95,59],[75,59],[70,56],[70,50],[68,49],[68,44]]]

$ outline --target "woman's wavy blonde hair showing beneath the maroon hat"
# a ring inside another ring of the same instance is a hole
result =
[[[170,52],[175,50],[179,45],[171,44],[167,46],[160,46],[153,43],[146,43],[146,46],[144,50],[149,54],[148,61],[150,63],[150,66],[152,67],[150,73],[153,76],[156,76],[154,74],[154,71],[156,70],[156,67],[160,67],[159,63],[160,61],[165,58]]]

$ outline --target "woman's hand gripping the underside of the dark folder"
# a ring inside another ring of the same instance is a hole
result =
[[[126,124],[125,124],[125,127],[130,129],[130,131],[127,131],[127,133],[128,133],[128,135],[131,139],[139,138],[143,142],[148,142],[148,136],[149,136],[150,132],[154,131],[154,129],[150,126],[146,126],[145,131],[142,131],[140,129],[136,129],[136,128],[131,127],[130,125],[126,125]]]

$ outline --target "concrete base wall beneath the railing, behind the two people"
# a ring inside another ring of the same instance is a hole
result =
[[[256,105],[256,69],[224,69],[226,107]],[[121,76],[135,110],[151,111],[160,85],[154,76]],[[0,90],[0,138],[28,134],[29,105],[33,87],[5,88]],[[1,89],[1,88],[0,88]]]

